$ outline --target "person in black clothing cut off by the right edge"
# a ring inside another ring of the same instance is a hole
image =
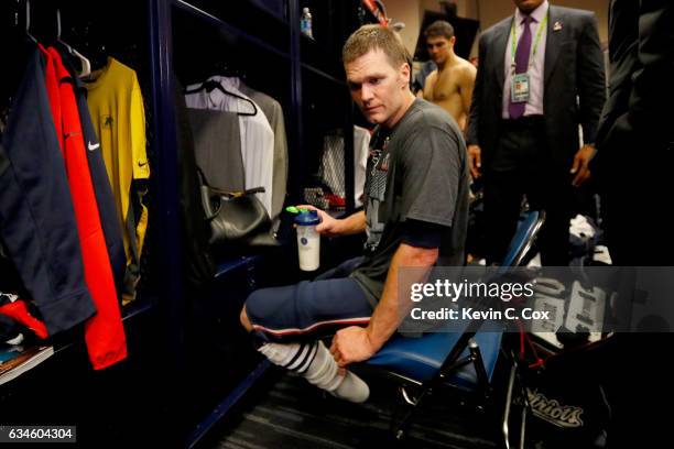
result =
[[[610,89],[593,171],[616,265],[674,265],[671,208],[674,163],[674,6],[611,2]]]

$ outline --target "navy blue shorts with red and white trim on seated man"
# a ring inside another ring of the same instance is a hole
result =
[[[345,275],[347,271],[340,265],[331,273]],[[323,277],[251,293],[244,307],[253,331],[268,341],[291,341],[370,322],[372,305],[358,282]]]

